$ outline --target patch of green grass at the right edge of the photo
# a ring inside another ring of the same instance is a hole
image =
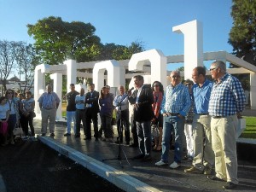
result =
[[[247,120],[247,128],[240,137],[256,139],[256,117],[244,117]]]

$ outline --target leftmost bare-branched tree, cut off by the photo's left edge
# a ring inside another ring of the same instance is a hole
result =
[[[14,41],[0,41],[0,73],[3,85],[3,90],[7,90],[6,84],[9,74],[12,69],[16,67],[16,57],[17,57],[17,46],[19,43]]]

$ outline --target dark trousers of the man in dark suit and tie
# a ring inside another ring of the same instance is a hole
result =
[[[93,128],[94,128],[94,137],[98,137],[98,116],[97,113],[90,113],[90,110],[87,109],[86,115],[85,115],[85,121],[86,121],[86,126],[85,126],[85,136],[86,138],[91,138],[91,120],[93,123]]]

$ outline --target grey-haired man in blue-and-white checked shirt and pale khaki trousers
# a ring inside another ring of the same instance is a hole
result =
[[[238,79],[226,73],[223,61],[215,61],[210,67],[215,80],[209,102],[212,116],[212,149],[215,154],[216,176],[209,179],[227,181],[224,189],[234,189],[238,184],[236,127],[237,118],[245,108],[245,94]]]

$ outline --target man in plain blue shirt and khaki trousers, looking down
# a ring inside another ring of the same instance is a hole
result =
[[[211,174],[214,165],[212,151],[211,116],[208,113],[212,82],[206,78],[205,67],[195,67],[192,79],[192,98],[195,103],[193,118],[194,159],[189,169],[184,172]]]

